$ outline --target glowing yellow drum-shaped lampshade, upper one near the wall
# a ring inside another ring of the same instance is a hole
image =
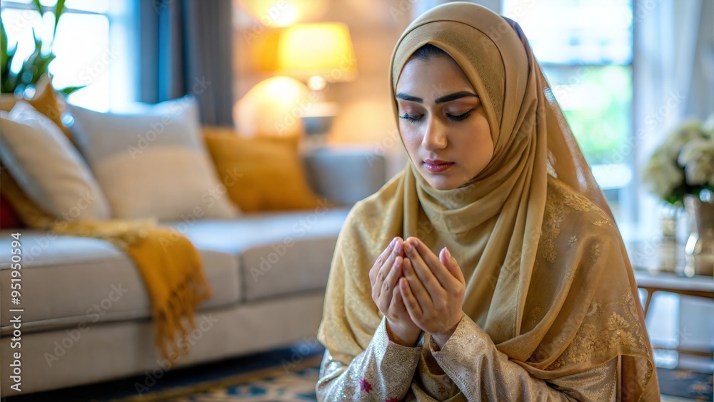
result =
[[[278,74],[301,81],[319,77],[329,82],[353,81],[357,61],[345,24],[298,24],[281,34],[276,60]]]

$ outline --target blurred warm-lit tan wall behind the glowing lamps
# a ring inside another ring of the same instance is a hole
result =
[[[290,1],[290,0],[286,0]],[[323,0],[324,1],[324,0]],[[255,84],[271,76],[260,71],[256,62],[269,40],[260,18],[253,19],[234,2],[234,54],[236,99]],[[348,83],[331,84],[325,92],[328,101],[338,103],[338,116],[328,135],[330,144],[366,144],[388,156],[391,176],[406,163],[389,97],[389,61],[403,30],[419,14],[446,0],[331,0],[326,14],[314,21],[342,21],[348,25],[357,58],[358,78]],[[501,0],[477,3],[500,9]],[[307,21],[305,21],[307,22]]]

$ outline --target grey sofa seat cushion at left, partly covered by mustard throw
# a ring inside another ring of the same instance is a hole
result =
[[[11,292],[11,241],[0,232],[0,293]],[[119,248],[96,238],[52,236],[21,231],[23,331],[76,326],[82,321],[121,321],[151,316],[149,295],[134,262]],[[199,308],[225,306],[241,299],[234,256],[201,250],[213,296]],[[0,311],[0,333],[11,331],[9,308]]]

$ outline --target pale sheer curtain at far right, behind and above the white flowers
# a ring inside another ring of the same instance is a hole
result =
[[[714,111],[713,21],[710,0],[635,0],[636,179],[670,130]],[[658,233],[658,201],[642,186],[638,198],[639,233]]]

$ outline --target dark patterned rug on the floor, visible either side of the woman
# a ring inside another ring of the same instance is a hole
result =
[[[149,391],[136,391],[144,377],[123,378],[59,391],[6,398],[23,401],[316,401],[323,348],[296,344],[203,366],[169,371]],[[295,363],[293,363],[295,362]],[[712,375],[658,368],[663,402],[712,401]]]

